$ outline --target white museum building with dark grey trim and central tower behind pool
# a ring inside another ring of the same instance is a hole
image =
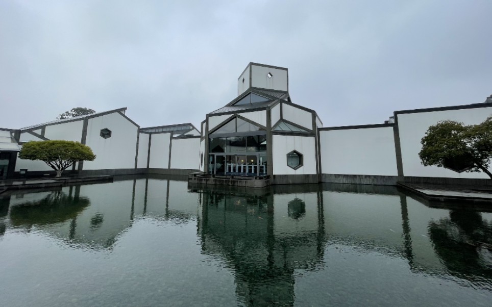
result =
[[[323,127],[314,110],[294,103],[287,68],[249,63],[237,79],[237,97],[208,113],[200,131],[191,123],[140,127],[120,108],[90,115],[0,129],[0,179],[43,176],[41,161],[17,157],[23,143],[72,140],[90,146],[94,161],[68,173],[174,174],[268,178],[269,184],[484,180],[479,172],[423,166],[420,143],[441,120],[479,124],[492,115],[483,103],[396,111],[384,123]],[[489,170],[492,170],[489,168]]]

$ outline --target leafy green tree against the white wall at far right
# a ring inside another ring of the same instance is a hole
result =
[[[445,120],[429,127],[419,157],[425,166],[458,166],[468,172],[488,171],[492,158],[492,116],[477,125]]]

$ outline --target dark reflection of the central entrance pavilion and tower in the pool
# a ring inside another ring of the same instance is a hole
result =
[[[323,208],[314,188],[299,194],[201,191],[202,250],[234,270],[244,303],[291,305],[294,270],[323,266]]]

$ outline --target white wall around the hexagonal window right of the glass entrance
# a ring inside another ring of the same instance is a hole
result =
[[[304,175],[316,173],[314,137],[273,136],[274,175]],[[294,170],[287,166],[287,154],[297,150],[303,155],[303,166]]]

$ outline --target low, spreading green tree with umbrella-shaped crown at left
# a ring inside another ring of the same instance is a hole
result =
[[[50,140],[31,141],[22,145],[20,159],[40,160],[56,171],[62,172],[77,161],[93,161],[95,155],[89,146],[74,141]]]

